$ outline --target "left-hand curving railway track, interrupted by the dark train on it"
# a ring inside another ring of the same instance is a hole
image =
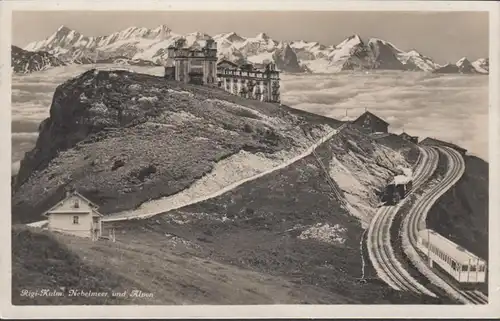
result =
[[[412,191],[418,189],[435,171],[438,161],[436,156],[430,149],[421,148]],[[382,206],[377,211],[368,228],[368,254],[378,276],[393,289],[435,296],[406,271],[395,257],[390,242],[392,221],[406,200],[407,198],[403,199],[396,206]]]

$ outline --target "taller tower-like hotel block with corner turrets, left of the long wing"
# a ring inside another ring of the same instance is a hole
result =
[[[186,40],[181,38],[167,50],[165,78],[197,85],[216,84],[217,43],[213,39],[186,46]]]

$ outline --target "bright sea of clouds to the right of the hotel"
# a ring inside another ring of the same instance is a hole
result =
[[[365,108],[404,131],[456,143],[488,160],[488,77],[420,72],[283,75],[283,103],[342,119]]]

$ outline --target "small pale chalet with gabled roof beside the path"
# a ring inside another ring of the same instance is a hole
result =
[[[102,235],[102,217],[98,206],[80,193],[66,192],[62,200],[43,213],[48,229],[80,237],[98,239]]]

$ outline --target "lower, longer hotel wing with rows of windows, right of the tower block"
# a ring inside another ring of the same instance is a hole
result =
[[[264,69],[226,67],[226,61],[218,64],[217,78],[219,87],[234,95],[266,102],[279,103],[280,76],[275,64],[267,64]]]

